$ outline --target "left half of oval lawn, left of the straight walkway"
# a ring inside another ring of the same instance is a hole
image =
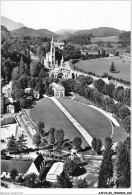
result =
[[[81,137],[83,141],[82,146],[87,146],[87,142],[80,132],[49,98],[38,101],[35,107],[30,110],[30,117],[36,124],[39,121],[43,121],[45,124],[45,131],[49,131],[51,127],[63,129],[66,139],[73,140],[78,136]]]

